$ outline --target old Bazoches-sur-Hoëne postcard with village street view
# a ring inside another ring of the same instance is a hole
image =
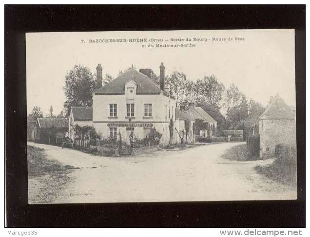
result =
[[[28,202],[295,200],[294,30],[27,33]]]

